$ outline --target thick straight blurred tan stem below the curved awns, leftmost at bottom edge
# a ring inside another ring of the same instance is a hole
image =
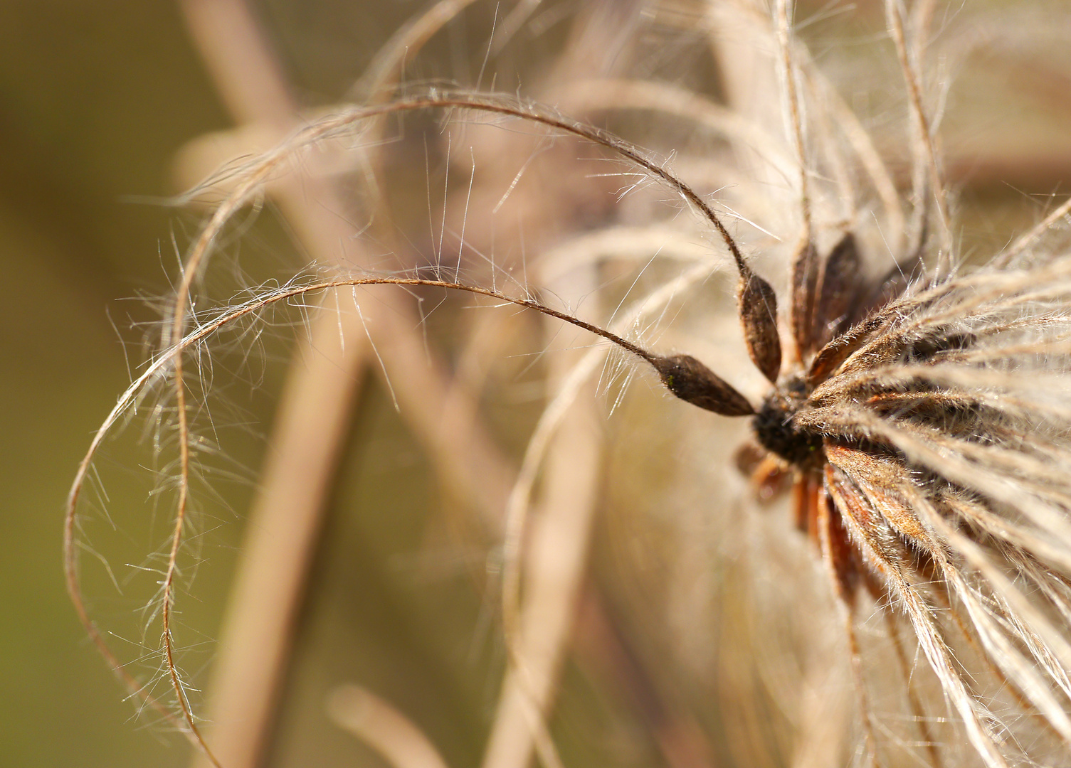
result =
[[[291,367],[281,399],[221,633],[209,718],[224,768],[254,766],[262,749],[359,389],[363,339],[343,351],[337,327],[315,323],[312,333],[306,365]]]

